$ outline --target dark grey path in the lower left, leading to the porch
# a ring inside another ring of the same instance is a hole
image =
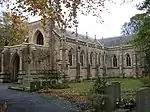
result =
[[[0,84],[0,101],[8,103],[8,112],[71,112],[71,103],[54,97],[8,90],[10,84]]]

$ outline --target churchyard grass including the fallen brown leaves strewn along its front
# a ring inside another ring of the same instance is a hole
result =
[[[140,79],[134,78],[107,78],[108,82],[120,82],[121,84],[121,98],[126,101],[130,101],[130,99],[135,99],[136,97],[136,89],[139,89],[143,86]],[[93,87],[94,80],[86,80],[80,83],[71,82],[69,83],[70,88],[68,89],[48,89],[48,90],[40,90],[40,94],[44,98],[60,98],[65,99],[70,102],[76,103],[79,109],[85,109],[88,107],[91,108],[89,103],[89,92]],[[126,91],[127,90],[127,91]],[[109,91],[110,92],[110,91]],[[55,97],[52,97],[55,96]],[[132,97],[131,97],[132,96]],[[75,109],[76,109],[75,105]],[[80,108],[81,107],[81,108]],[[83,108],[84,107],[84,108]],[[73,106],[74,108],[74,106]]]

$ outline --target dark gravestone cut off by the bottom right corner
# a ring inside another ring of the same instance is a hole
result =
[[[136,93],[137,112],[150,112],[150,88],[143,88]]]

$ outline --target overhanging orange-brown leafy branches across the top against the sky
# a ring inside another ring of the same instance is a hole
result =
[[[21,9],[33,16],[39,15],[43,19],[51,19],[59,27],[67,28],[77,26],[79,13],[91,14],[101,19],[106,1],[112,0],[16,0],[13,10]]]

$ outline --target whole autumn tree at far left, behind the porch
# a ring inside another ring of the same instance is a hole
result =
[[[0,41],[5,46],[22,43],[28,33],[26,19],[15,13],[3,12],[0,25]]]

